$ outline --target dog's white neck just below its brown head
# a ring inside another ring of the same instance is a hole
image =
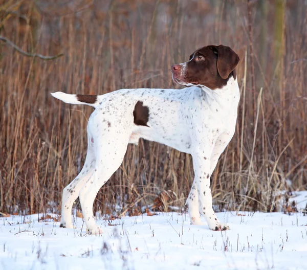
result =
[[[233,76],[228,79],[227,84],[217,89],[210,89],[204,85],[200,85],[203,90],[203,97],[209,107],[219,110],[223,109],[225,113],[232,109],[237,109],[240,100],[240,91],[237,79]]]

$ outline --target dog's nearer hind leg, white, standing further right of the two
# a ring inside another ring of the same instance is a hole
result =
[[[115,132],[109,132],[107,136],[99,137],[97,140],[94,172],[79,192],[82,214],[89,234],[102,233],[93,215],[94,200],[99,189],[121,165],[129,137],[130,134],[115,130]]]

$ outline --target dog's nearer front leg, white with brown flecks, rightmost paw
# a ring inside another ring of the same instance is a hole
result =
[[[229,227],[226,224],[218,221],[216,214],[212,208],[212,194],[210,188],[210,160],[204,156],[194,154],[194,183],[196,183],[199,199],[199,211],[206,218],[208,226],[211,230],[227,230]]]

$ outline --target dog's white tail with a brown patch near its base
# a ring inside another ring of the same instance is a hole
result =
[[[96,108],[99,105],[99,98],[97,95],[74,95],[65,94],[63,92],[51,93],[51,95],[65,103],[70,104],[85,104]]]

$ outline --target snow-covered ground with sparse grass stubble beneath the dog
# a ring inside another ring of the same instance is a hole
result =
[[[307,269],[302,213],[217,213],[231,228],[222,233],[187,214],[144,214],[97,220],[101,236],[86,235],[81,218],[62,229],[42,216],[0,218],[0,269]]]

